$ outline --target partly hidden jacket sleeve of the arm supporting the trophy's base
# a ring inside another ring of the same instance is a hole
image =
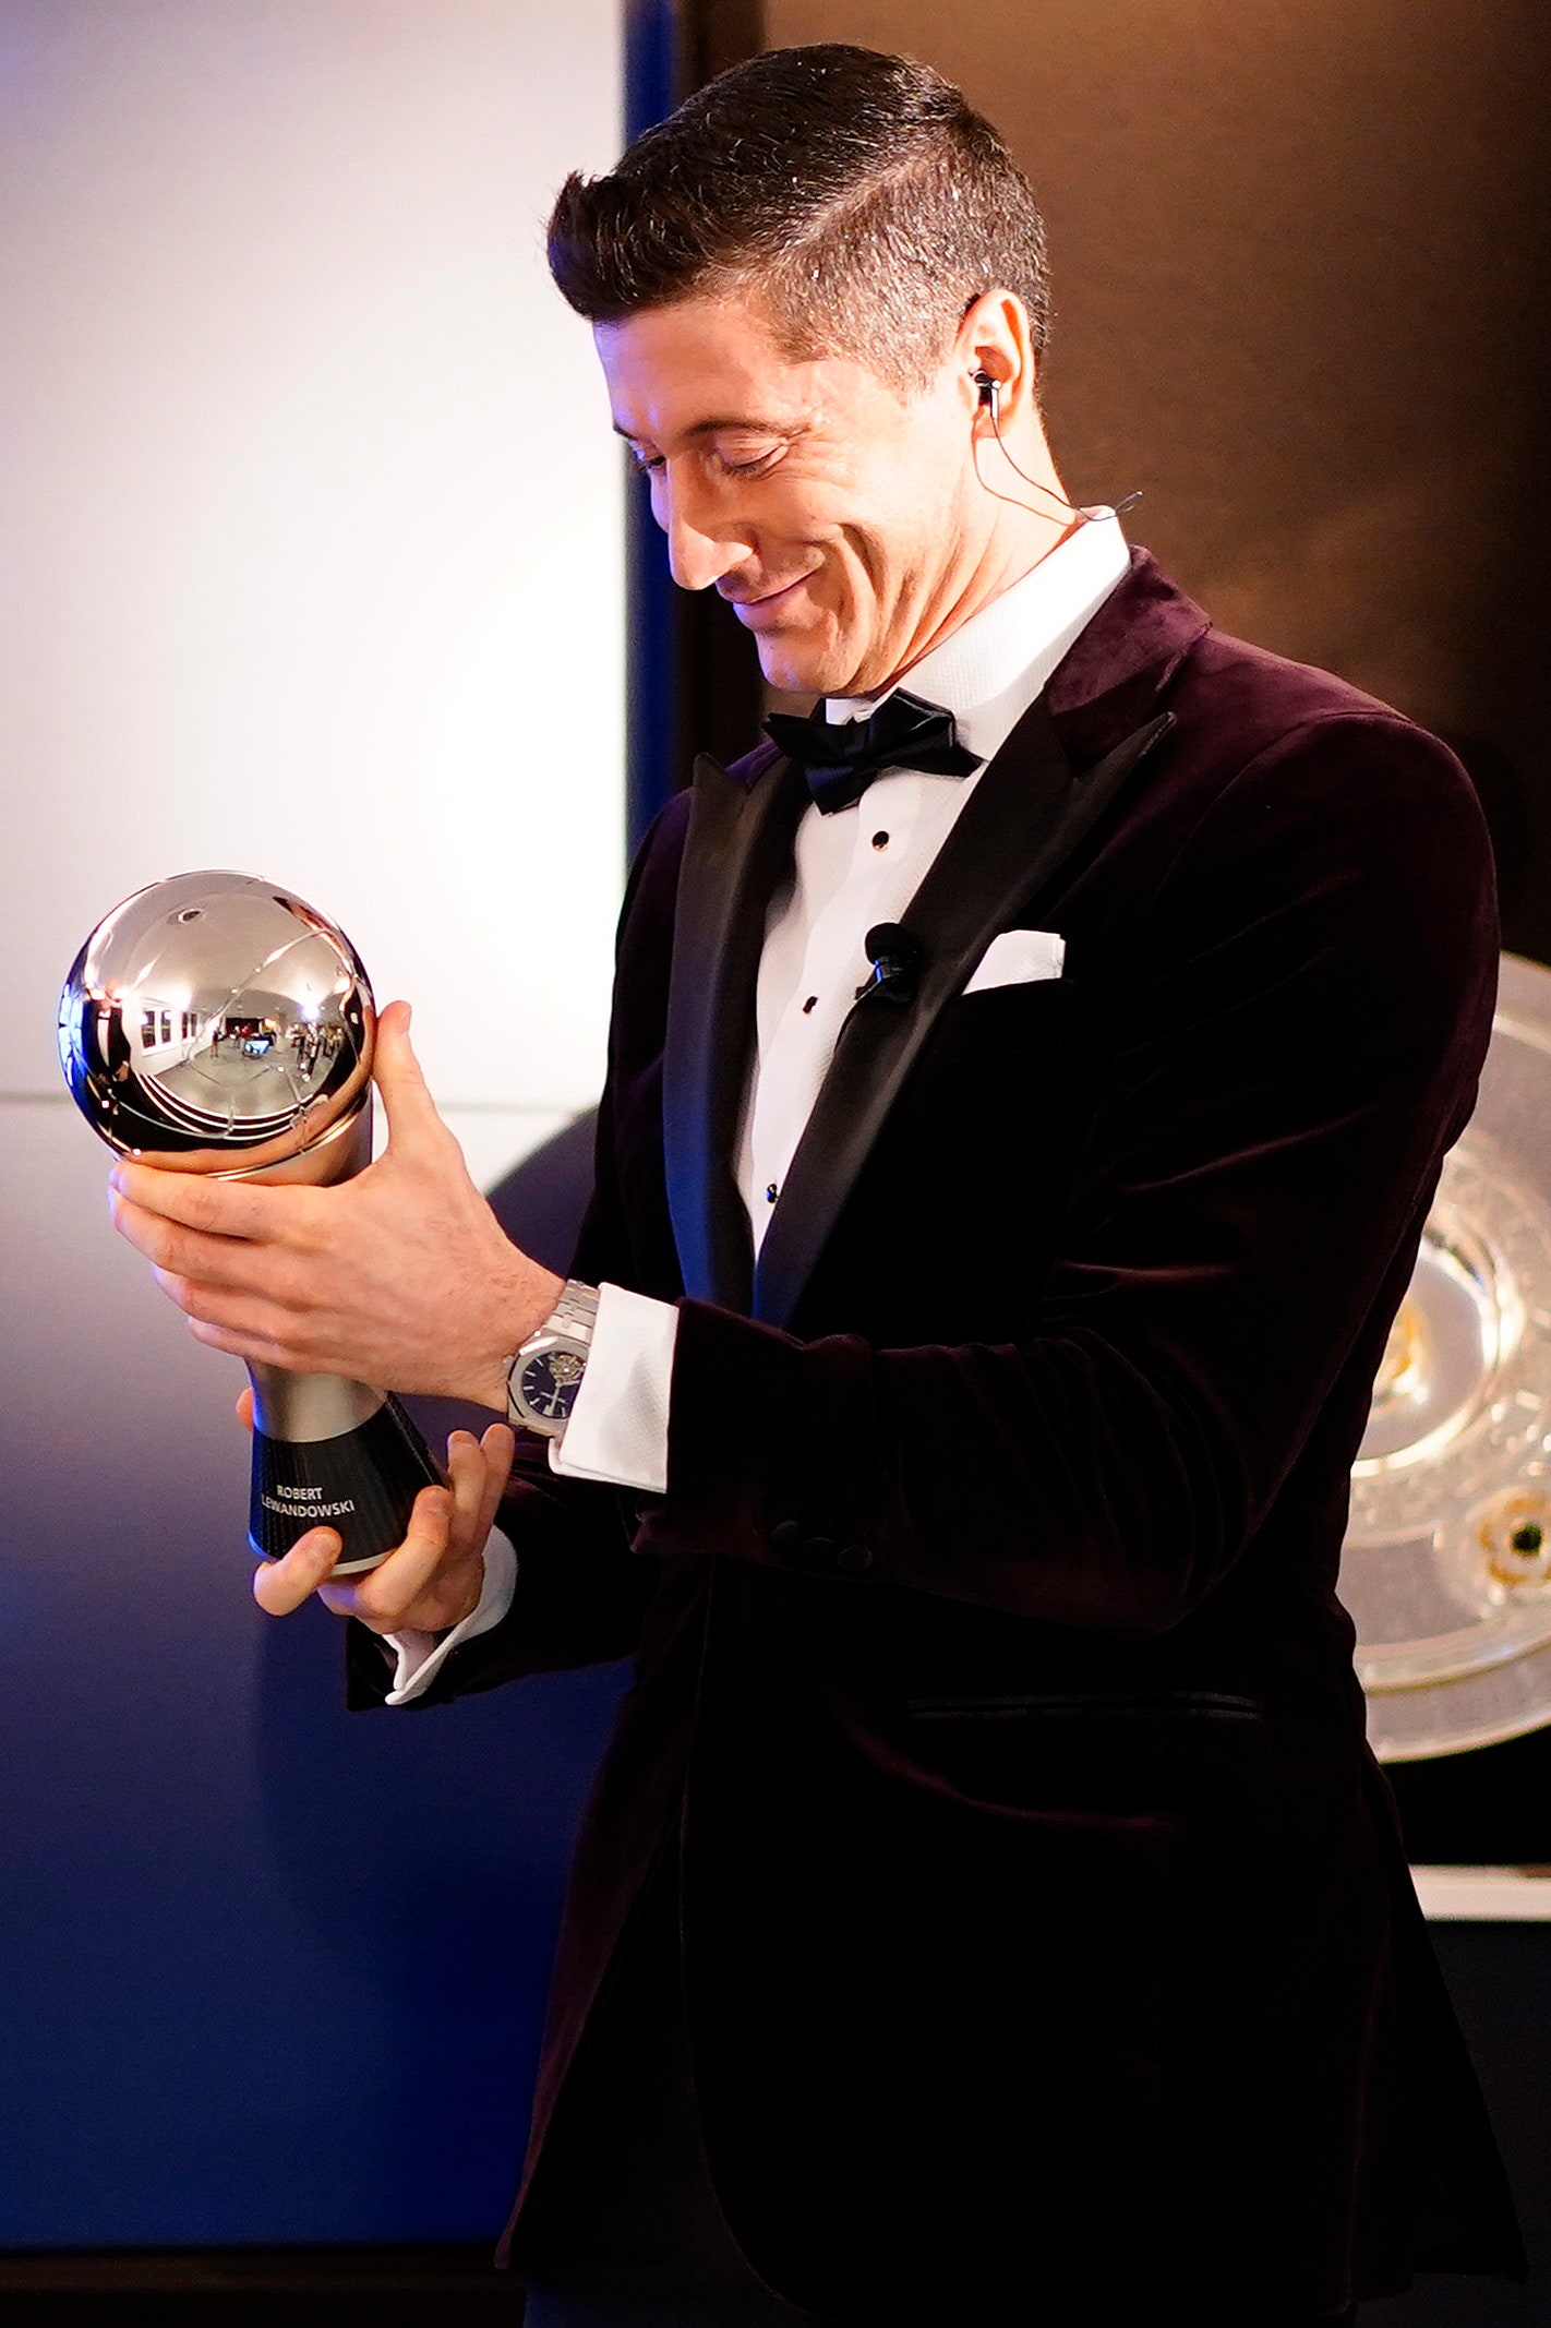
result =
[[[615,999],[631,978],[657,975],[666,1001],[671,896],[682,845],[687,794],[678,794],[647,831],[619,910]],[[666,892],[666,906],[654,892]],[[652,892],[652,894],[643,894]],[[661,927],[659,927],[661,924]],[[619,1013],[615,1010],[615,1027]],[[615,1171],[617,1045],[599,1101],[594,1183],[571,1276],[596,1285],[633,1285],[629,1215]],[[640,1618],[657,1585],[657,1562],[631,1555],[636,1497],[599,1481],[564,1478],[550,1469],[550,1443],[519,1432],[510,1492],[496,1525],[517,1550],[512,1604],[498,1625],[449,1651],[435,1681],[403,1711],[447,1704],[470,1690],[578,1665],[629,1658],[640,1641]],[[389,1692],[391,1660],[375,1632],[347,1625],[347,1702],[380,1706]]]

